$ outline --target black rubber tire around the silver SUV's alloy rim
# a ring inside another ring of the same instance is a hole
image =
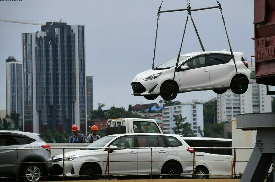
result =
[[[35,170],[35,172],[39,172],[39,177],[35,180],[35,181],[42,181],[44,177],[41,176],[45,176],[44,174],[44,170],[43,167],[41,166],[41,164],[39,163],[27,163],[23,166],[23,171],[22,171],[22,176],[24,177],[24,181],[34,181],[33,178],[29,179],[30,177],[27,177],[27,172],[30,173],[29,170]]]

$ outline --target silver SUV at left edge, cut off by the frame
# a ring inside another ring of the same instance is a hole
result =
[[[39,134],[23,131],[0,130],[0,176],[16,176],[18,148],[18,177],[23,181],[40,181],[52,169],[50,145]],[[21,148],[45,148],[26,149]],[[11,150],[2,150],[11,149]],[[41,162],[41,163],[40,163]],[[50,162],[50,163],[47,163]]]

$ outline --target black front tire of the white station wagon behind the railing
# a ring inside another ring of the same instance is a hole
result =
[[[84,166],[81,167],[80,175],[92,175],[92,174],[98,174],[97,176],[81,176],[80,178],[82,180],[98,180],[100,177],[100,170],[98,169],[97,165],[93,163],[84,164]]]

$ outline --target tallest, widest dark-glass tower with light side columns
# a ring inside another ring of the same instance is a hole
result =
[[[84,26],[47,22],[22,34],[24,130],[86,132]]]

